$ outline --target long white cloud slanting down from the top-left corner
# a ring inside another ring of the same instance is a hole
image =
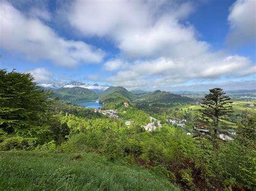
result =
[[[0,19],[0,47],[21,52],[29,59],[48,59],[58,65],[76,66],[80,62],[98,63],[105,55],[101,49],[83,41],[59,37],[41,20],[24,16],[5,1],[0,2]]]

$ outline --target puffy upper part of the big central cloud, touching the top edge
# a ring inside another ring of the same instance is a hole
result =
[[[68,20],[84,36],[111,38],[130,58],[199,54],[208,48],[194,39],[192,26],[179,23],[194,8],[176,1],[82,1],[72,3]],[[191,51],[193,47],[194,51]]]

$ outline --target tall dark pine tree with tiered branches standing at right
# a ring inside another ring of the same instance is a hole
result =
[[[206,94],[201,102],[200,124],[210,130],[210,139],[213,142],[214,150],[217,148],[217,135],[221,132],[220,124],[225,124],[228,114],[233,112],[231,98],[221,88],[210,89],[210,94]]]

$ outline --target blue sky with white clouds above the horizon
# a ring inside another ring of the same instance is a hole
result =
[[[256,0],[0,0],[0,55],[37,83],[256,89]]]

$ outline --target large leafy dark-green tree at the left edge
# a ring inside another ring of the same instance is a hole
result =
[[[0,130],[4,137],[45,139],[52,100],[29,73],[0,69]]]

